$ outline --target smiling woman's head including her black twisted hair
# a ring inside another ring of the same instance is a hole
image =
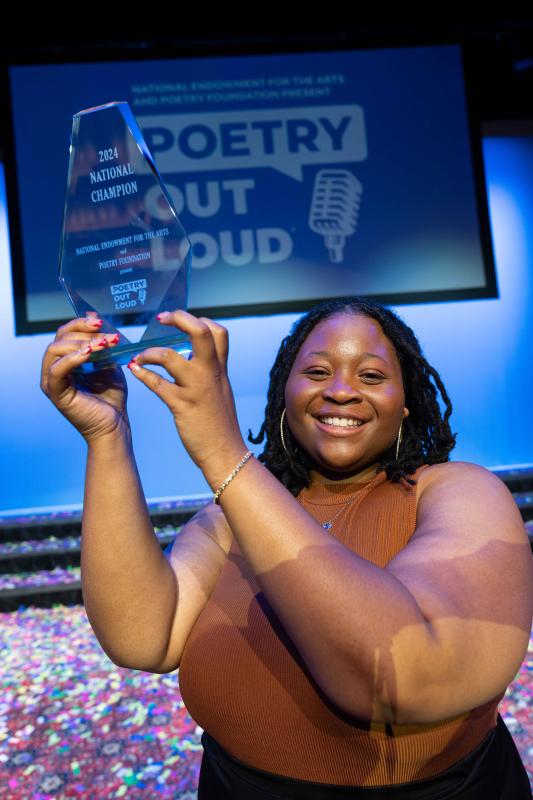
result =
[[[367,299],[341,298],[311,309],[281,343],[270,375],[265,422],[258,437],[249,438],[257,444],[266,435],[260,460],[295,496],[319,466],[318,474],[326,480],[341,474],[347,480],[350,470],[358,480],[357,473],[374,460],[390,480],[409,481],[417,467],[447,461],[455,445],[448,424],[452,407],[438,372],[424,358],[413,331],[392,311]],[[312,406],[303,413],[293,411],[295,402],[301,408],[312,394]],[[338,425],[331,424],[333,412],[341,420]],[[350,435],[343,428],[353,424],[352,417],[368,428],[358,431],[364,434],[362,460],[350,464],[350,439],[343,451],[334,436]],[[283,448],[278,429],[285,430],[285,420],[289,433]],[[306,433],[313,424],[310,441]],[[345,453],[344,466],[342,460],[334,465],[321,461],[320,452],[325,447],[327,454],[330,444],[337,455]]]

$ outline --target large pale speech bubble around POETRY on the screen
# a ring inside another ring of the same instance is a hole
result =
[[[163,174],[270,167],[301,181],[305,165],[367,158],[358,105],[156,114],[138,122]],[[137,174],[147,171],[136,151],[129,157]]]

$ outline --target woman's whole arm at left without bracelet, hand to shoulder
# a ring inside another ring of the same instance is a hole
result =
[[[81,576],[91,626],[118,666],[166,672],[178,665],[181,643],[216,583],[229,529],[217,509],[221,548],[210,538],[212,514],[209,524],[191,521],[167,560],[135,463],[122,370],[103,370],[82,384],[72,375],[88,347],[112,346],[102,342],[95,320],[62,326],[44,355],[41,388],[88,446]]]

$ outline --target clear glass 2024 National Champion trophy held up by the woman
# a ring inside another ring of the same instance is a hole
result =
[[[191,244],[127,103],[73,117],[59,280],[76,316],[96,312],[117,345],[91,354],[82,372],[127,364],[148,347],[190,353],[187,336],[162,325],[185,309]],[[142,326],[136,342],[118,330]]]

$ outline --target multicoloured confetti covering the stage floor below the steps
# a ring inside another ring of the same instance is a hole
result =
[[[0,614],[2,800],[194,800],[201,729],[177,672],[115,666],[83,606]],[[533,640],[500,713],[533,779]]]

